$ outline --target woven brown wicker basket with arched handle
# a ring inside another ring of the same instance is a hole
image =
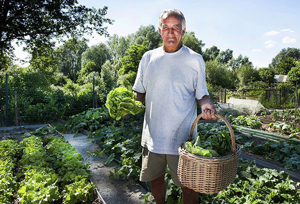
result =
[[[231,153],[221,157],[197,156],[189,153],[179,146],[179,161],[177,175],[181,184],[196,192],[205,194],[217,193],[227,187],[235,178],[237,159],[241,152],[238,144],[235,144],[233,130],[229,122],[223,116],[215,113],[227,125],[231,136]],[[192,140],[193,130],[201,118],[199,114],[191,125],[188,141]]]

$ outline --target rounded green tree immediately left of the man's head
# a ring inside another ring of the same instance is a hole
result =
[[[154,25],[140,26],[134,33],[131,44],[142,44],[143,41],[148,41],[149,49],[157,48],[160,45],[162,40]]]

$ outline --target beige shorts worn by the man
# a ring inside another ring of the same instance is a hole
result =
[[[168,166],[172,180],[178,187],[184,187],[177,177],[179,155],[159,154],[142,147],[142,163],[139,175],[140,181],[151,181],[165,173]]]

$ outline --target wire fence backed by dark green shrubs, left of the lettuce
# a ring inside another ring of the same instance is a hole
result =
[[[10,84],[8,77],[18,75],[0,76],[0,126],[63,121],[71,115],[103,104],[103,101],[97,100],[94,80],[93,88],[78,96],[66,94],[61,88],[46,90],[39,86],[26,88]]]

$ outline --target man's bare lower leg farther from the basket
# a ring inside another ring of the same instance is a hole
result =
[[[164,197],[166,193],[166,186],[164,182],[164,173],[158,178],[150,181],[151,192],[156,204],[164,204]]]

